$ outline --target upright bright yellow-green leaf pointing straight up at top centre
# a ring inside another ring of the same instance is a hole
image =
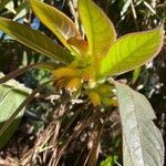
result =
[[[113,23],[92,0],[79,0],[79,13],[85,28],[90,54],[105,55],[116,39]]]

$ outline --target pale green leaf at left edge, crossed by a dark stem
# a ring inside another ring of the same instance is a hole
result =
[[[4,76],[0,73],[0,77]],[[0,128],[8,121],[11,114],[18,108],[21,102],[29,95],[30,89],[24,87],[22,84],[11,80],[0,85]],[[13,123],[9,125],[8,131],[0,135],[0,148],[11,138],[20,120],[24,113],[22,110],[14,118]]]

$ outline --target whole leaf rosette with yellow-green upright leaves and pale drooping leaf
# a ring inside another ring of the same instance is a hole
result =
[[[43,33],[4,18],[0,18],[0,30],[52,58],[55,64],[61,64],[60,68],[51,69],[52,81],[56,87],[65,89],[72,92],[71,94],[85,93],[95,107],[118,105],[124,134],[125,166],[162,166],[163,139],[153,123],[155,116],[152,107],[144,96],[113,79],[108,81],[108,77],[137,69],[157,55],[163,45],[163,25],[116,39],[115,28],[106,14],[92,0],[79,0],[79,15],[85,30],[83,38],[74,22],[58,9],[38,0],[29,2],[35,15],[56,35],[65,49]],[[50,70],[49,64],[44,68]],[[3,80],[11,79],[11,75]],[[129,114],[126,114],[127,111]],[[127,129],[129,124],[131,131]],[[147,128],[144,126],[146,124]],[[134,128],[136,129],[132,135]],[[152,138],[147,138],[146,132],[151,132]],[[137,146],[134,141],[137,142]],[[156,156],[149,152],[151,147],[156,151]],[[148,159],[151,162],[147,162]]]

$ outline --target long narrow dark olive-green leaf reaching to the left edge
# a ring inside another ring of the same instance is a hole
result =
[[[69,64],[73,56],[62,46],[52,42],[50,38],[29,28],[25,24],[19,24],[4,18],[0,18],[0,30],[14,38],[24,45],[48,55],[54,60],[59,60],[64,64]]]

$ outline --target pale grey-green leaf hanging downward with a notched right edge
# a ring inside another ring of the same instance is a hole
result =
[[[164,143],[145,96],[115,82],[123,132],[124,166],[163,166]]]

